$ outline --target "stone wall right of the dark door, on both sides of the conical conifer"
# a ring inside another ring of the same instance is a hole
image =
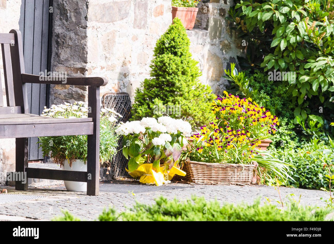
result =
[[[54,0],[52,70],[71,76],[104,76],[107,92],[126,91],[131,97],[148,78],[157,39],[172,23],[171,0]],[[199,61],[201,82],[216,94],[227,81],[224,68],[242,55],[225,20],[230,0],[204,0],[198,5],[193,30],[188,30],[193,57]],[[241,41],[237,41],[241,44]],[[87,88],[57,85],[51,104],[87,101]]]

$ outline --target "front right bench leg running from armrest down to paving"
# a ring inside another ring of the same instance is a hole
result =
[[[88,135],[87,140],[87,195],[99,195],[100,178],[100,87],[88,87],[88,108],[93,118],[93,135]]]

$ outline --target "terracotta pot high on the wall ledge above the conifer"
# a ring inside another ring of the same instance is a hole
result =
[[[172,19],[179,18],[187,30],[195,25],[198,8],[172,7]]]

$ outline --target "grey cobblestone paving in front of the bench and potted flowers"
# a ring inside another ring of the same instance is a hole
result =
[[[280,199],[275,187],[258,185],[208,186],[172,183],[157,187],[139,185],[133,181],[113,181],[113,183],[100,184],[99,196],[67,192],[63,186],[29,188],[28,191],[15,191],[14,187],[0,186],[0,189],[3,188],[8,190],[8,194],[37,195],[43,198],[7,203],[1,203],[0,201],[0,220],[6,215],[26,220],[50,220],[60,215],[61,209],[67,209],[81,219],[95,220],[102,210],[109,206],[114,206],[119,211],[124,211],[126,206],[132,206],[136,200],[141,203],[151,204],[160,195],[168,199],[176,197],[180,200],[189,199],[192,195],[196,195],[203,196],[207,200],[217,199],[222,203],[240,203],[242,201],[253,203],[255,199],[260,197],[263,204],[267,202],[266,198],[269,198],[272,200],[271,203],[276,205],[278,205],[276,201]],[[327,192],[318,190],[280,187],[280,193],[282,199],[285,196],[294,194],[292,198],[296,201],[299,201],[299,196],[302,195],[301,204],[310,206],[324,206],[325,204],[320,198],[328,198]],[[2,194],[0,195],[0,200],[1,196]]]

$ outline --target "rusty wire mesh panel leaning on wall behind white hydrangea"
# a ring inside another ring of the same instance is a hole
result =
[[[118,118],[118,122],[126,122],[131,117],[131,98],[126,92],[118,93],[106,93],[102,97],[102,106],[104,108],[114,109],[116,112],[121,114],[123,117]],[[128,166],[129,160],[127,160],[122,152],[122,140],[123,136],[118,141],[117,154],[113,157],[110,162],[110,167],[113,169],[113,179],[117,177],[129,176],[126,172],[125,167]]]

